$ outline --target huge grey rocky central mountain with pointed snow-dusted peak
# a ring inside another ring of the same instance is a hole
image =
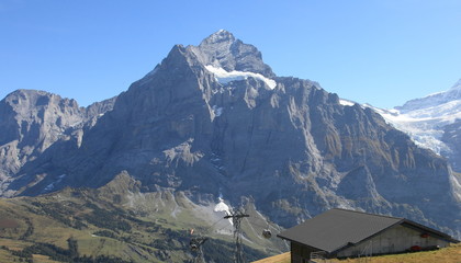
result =
[[[65,127],[75,124],[69,112]],[[1,117],[0,129],[14,134],[12,121]],[[277,77],[226,31],[175,46],[112,111],[76,130],[18,165],[8,193],[99,187],[123,171],[142,193],[175,191],[195,204],[221,196],[233,207],[249,199],[283,227],[345,207],[460,232],[460,188],[445,159],[370,108]]]

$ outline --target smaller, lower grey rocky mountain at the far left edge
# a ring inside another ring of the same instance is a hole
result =
[[[18,90],[0,101],[0,193],[21,168],[56,141],[81,142],[85,125],[110,111],[114,98],[79,107],[75,100],[45,91]]]

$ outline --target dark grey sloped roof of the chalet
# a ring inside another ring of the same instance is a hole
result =
[[[424,227],[404,218],[335,208],[290,228],[278,237],[331,253],[402,222],[416,228]],[[453,240],[450,236],[427,227],[423,230],[441,235],[448,241]]]

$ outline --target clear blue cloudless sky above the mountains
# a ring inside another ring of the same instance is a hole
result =
[[[459,0],[0,0],[0,99],[36,89],[86,106],[221,28],[278,76],[380,107],[461,78]]]

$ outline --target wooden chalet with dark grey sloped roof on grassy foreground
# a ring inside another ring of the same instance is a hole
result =
[[[405,218],[339,208],[327,210],[278,237],[291,242],[292,263],[306,263],[319,255],[331,259],[392,254],[459,242]]]

